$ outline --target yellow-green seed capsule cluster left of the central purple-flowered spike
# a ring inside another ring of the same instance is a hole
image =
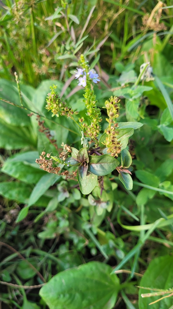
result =
[[[72,118],[73,115],[77,115],[78,112],[74,112],[73,109],[67,106],[66,102],[60,100],[60,96],[55,91],[56,88],[57,86],[54,84],[53,86],[50,86],[51,91],[46,97],[46,109],[53,113],[52,117],[55,115],[59,117],[59,115],[61,115]]]

